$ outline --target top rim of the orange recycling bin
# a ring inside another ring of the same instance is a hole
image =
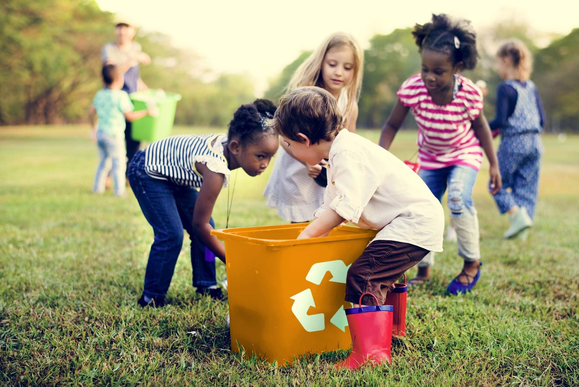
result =
[[[237,235],[235,232],[239,231],[259,231],[259,229],[284,229],[284,228],[301,228],[305,227],[309,223],[294,223],[294,224],[281,224],[274,226],[256,226],[256,227],[240,227],[240,228],[226,228],[211,230],[211,235],[214,235],[219,240],[239,240],[241,242],[248,242],[252,244],[260,244],[262,246],[294,246],[295,244],[308,244],[308,243],[318,243],[318,242],[333,242],[335,240],[349,240],[349,239],[364,239],[364,238],[374,238],[375,230],[367,230],[359,227],[353,226],[339,226],[340,229],[347,229],[352,231],[350,235],[339,235],[339,236],[322,236],[320,238],[308,238],[308,239],[261,239],[252,238],[251,236]]]

